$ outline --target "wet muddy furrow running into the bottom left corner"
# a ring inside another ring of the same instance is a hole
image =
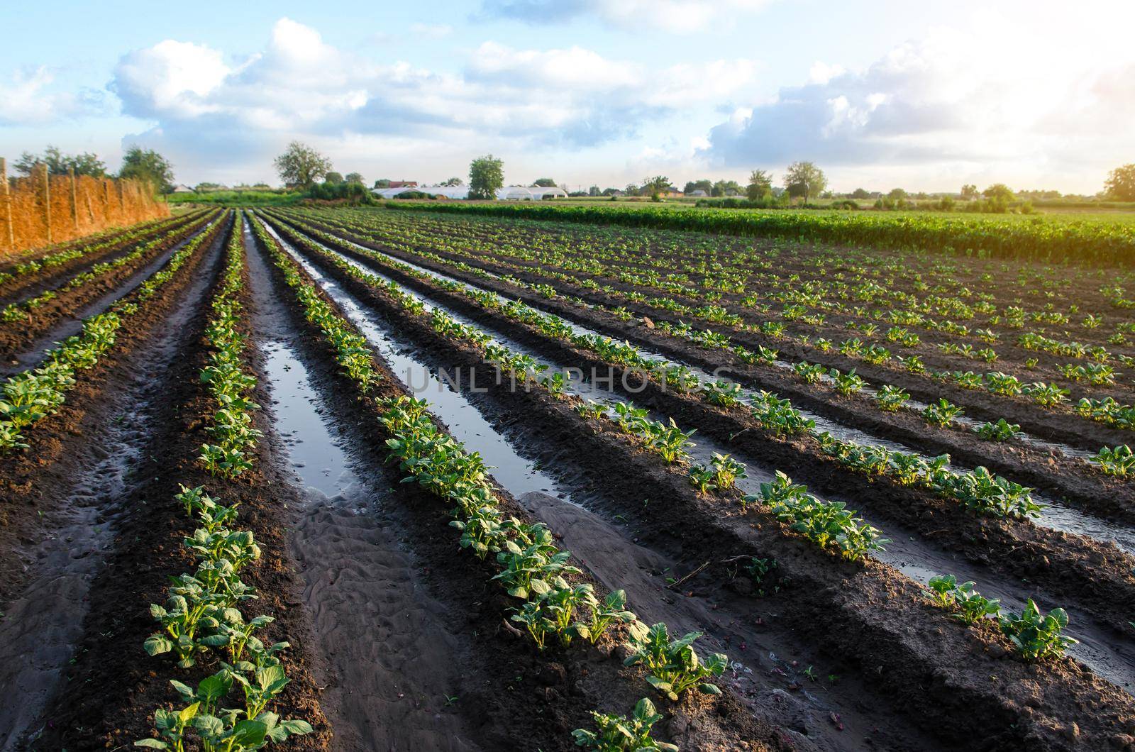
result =
[[[217,248],[209,251],[165,332],[133,360],[133,378],[108,392],[106,411],[89,413],[92,425],[84,425],[84,434],[90,438],[78,450],[84,461],[77,465],[85,469],[73,476],[74,486],[58,505],[43,512],[50,532],[24,552],[30,585],[0,619],[0,687],[12,690],[0,702],[0,749],[35,738],[41,713],[83,636],[91,580],[114,542],[117,520],[128,513],[120,507],[127,474],[152,433],[152,407],[163,386],[153,375],[168,370],[218,257]]]

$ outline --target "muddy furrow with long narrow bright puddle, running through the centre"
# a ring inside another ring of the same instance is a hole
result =
[[[286,241],[278,236],[277,240],[387,359],[395,375],[404,377],[404,383],[414,393],[429,400],[430,411],[448,425],[454,436],[480,452],[486,462],[496,468],[493,476],[503,487],[564,536],[565,549],[585,562],[597,579],[608,587],[628,590],[633,608],[644,619],[666,621],[674,629],[706,632],[706,650],[728,652],[734,661],[735,686],[741,696],[755,701],[756,712],[768,715],[768,709],[774,708],[777,715],[771,718],[773,722],[807,733],[809,741],[832,749],[846,749],[855,744],[851,740],[868,735],[878,737],[878,719],[855,709],[854,697],[860,690],[854,680],[843,680],[838,692],[832,687],[804,687],[806,679],[801,678],[801,672],[807,663],[801,659],[792,665],[793,658],[800,655],[799,645],[758,628],[753,619],[717,612],[703,599],[686,598],[667,590],[667,577],[678,575],[674,562],[628,540],[620,525],[588,511],[586,499],[580,498],[570,478],[553,478],[536,460],[522,456],[473,401],[453,391],[415,356],[411,343],[397,340],[353,295],[321,274]],[[497,339],[505,342],[503,337]],[[524,351],[519,345],[515,348]],[[587,385],[577,383],[575,386],[588,392]],[[792,695],[781,688],[790,683],[797,688]],[[846,730],[832,728],[829,720],[832,712],[840,716]],[[902,734],[919,736],[906,728]],[[927,742],[923,749],[932,747]]]

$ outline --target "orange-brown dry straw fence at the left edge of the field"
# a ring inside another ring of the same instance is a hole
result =
[[[48,175],[47,165],[9,181],[0,157],[0,257],[168,215],[141,181]]]

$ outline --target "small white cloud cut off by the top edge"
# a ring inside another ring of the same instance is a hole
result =
[[[580,17],[628,28],[653,26],[688,34],[738,14],[756,12],[772,0],[484,0],[480,17],[555,24]]]

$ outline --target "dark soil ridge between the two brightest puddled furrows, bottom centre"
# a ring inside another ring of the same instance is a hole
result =
[[[289,298],[288,304],[294,304],[294,296],[283,286],[280,290]],[[304,350],[318,356],[317,362],[321,364],[312,373],[317,379],[337,385],[330,395],[334,395],[333,410],[343,416],[339,423],[359,432],[355,445],[370,448],[371,462],[377,466],[385,459],[381,448],[386,441],[377,421],[377,406],[370,399],[360,401],[318,332],[306,323],[301,331],[305,332]],[[380,361],[378,365],[386,378],[373,396],[405,393],[397,378]],[[401,481],[396,468],[386,473],[392,484]],[[531,519],[507,492],[497,493],[505,515]],[[489,582],[494,569],[457,548],[453,529],[446,527],[451,517],[445,505],[415,485],[401,486],[398,499],[403,502],[403,519],[412,534],[413,549],[423,561],[430,562],[426,574],[434,593],[466,615],[465,632],[476,636],[472,650],[478,661],[470,667],[469,701],[463,697],[459,704],[463,713],[477,721],[485,749],[575,749],[571,729],[589,726],[591,710],[625,713],[639,697],[650,694],[641,670],[621,667],[617,660],[621,653],[612,637],[605,637],[598,649],[572,645],[569,650],[549,646],[544,654],[536,651],[530,640],[514,634],[506,625],[515,602]],[[592,583],[597,593],[606,592],[599,583]],[[729,693],[720,700],[687,694],[673,705],[656,700],[671,718],[667,725],[671,736],[683,749],[790,746],[790,735],[756,720]],[[801,740],[798,749],[809,746]]]

